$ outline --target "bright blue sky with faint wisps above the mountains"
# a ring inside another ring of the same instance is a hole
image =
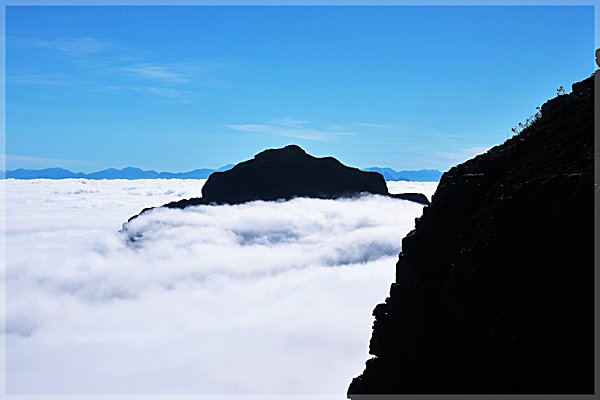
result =
[[[587,7],[7,7],[8,169],[219,167],[296,143],[446,170],[594,70]]]

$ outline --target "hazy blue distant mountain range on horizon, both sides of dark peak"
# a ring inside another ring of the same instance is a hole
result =
[[[89,174],[83,172],[73,172],[64,168],[46,168],[46,169],[15,169],[6,172],[0,171],[2,178],[14,179],[206,179],[213,172],[227,171],[233,167],[233,164],[227,164],[221,168],[210,169],[201,168],[189,172],[156,172],[153,170],[144,171],[140,168],[127,167],[123,169],[109,168]],[[419,171],[394,171],[391,168],[365,168],[363,171],[379,172],[386,181],[418,181],[418,182],[437,182],[442,173],[437,170],[422,169]]]

